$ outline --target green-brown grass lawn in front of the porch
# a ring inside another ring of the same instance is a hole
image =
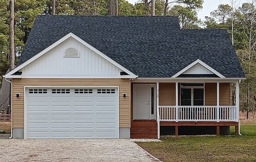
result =
[[[234,135],[234,128],[231,134]],[[242,136],[180,136],[136,142],[163,162],[255,162],[256,123],[241,124]]]

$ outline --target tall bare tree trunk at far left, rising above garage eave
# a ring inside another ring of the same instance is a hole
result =
[[[14,69],[14,0],[10,0],[10,33],[9,33],[9,51],[10,51],[10,71]]]

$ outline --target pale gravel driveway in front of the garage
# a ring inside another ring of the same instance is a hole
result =
[[[0,139],[1,161],[158,162],[128,139]]]

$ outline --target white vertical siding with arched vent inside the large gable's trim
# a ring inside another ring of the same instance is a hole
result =
[[[120,78],[122,72],[120,68],[72,37],[21,71],[23,78]]]

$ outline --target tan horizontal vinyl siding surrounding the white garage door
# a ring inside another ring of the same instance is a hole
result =
[[[130,127],[128,79],[13,79],[13,128],[24,128],[24,86],[119,86],[119,127]],[[21,97],[16,98],[16,93]],[[123,97],[123,93],[127,97]]]

